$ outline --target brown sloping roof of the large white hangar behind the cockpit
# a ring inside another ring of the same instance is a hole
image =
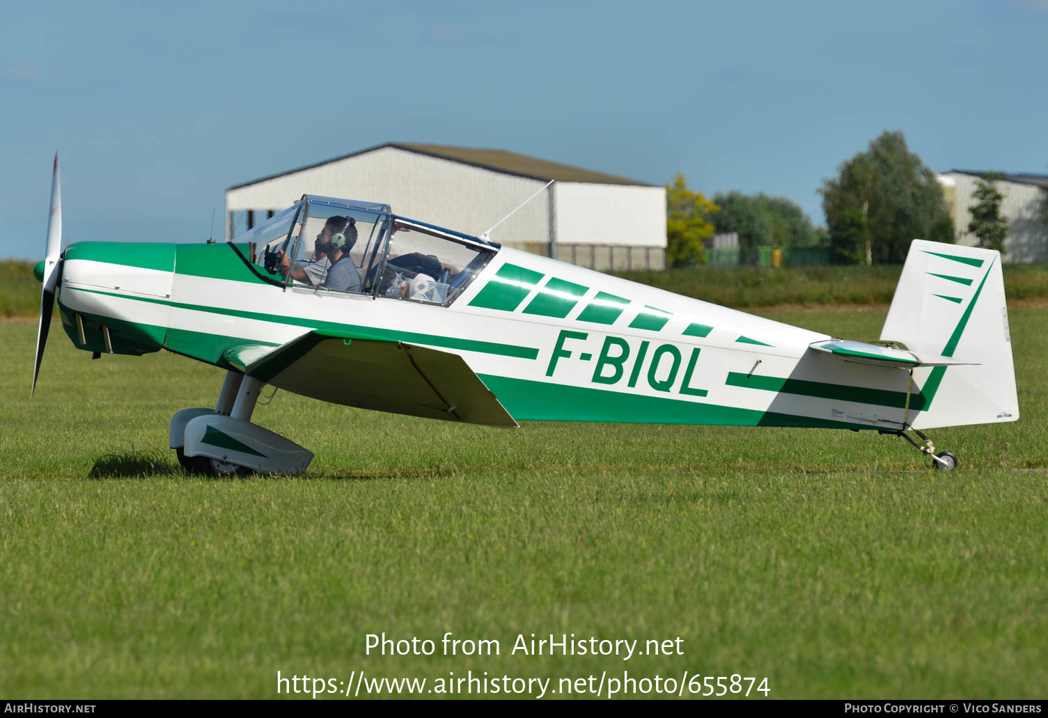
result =
[[[311,170],[314,167],[330,165],[331,162],[337,162],[343,159],[355,157],[357,155],[366,154],[368,152],[374,152],[375,150],[381,150],[387,147],[396,148],[398,150],[406,150],[408,152],[415,152],[417,154],[428,155],[430,157],[449,159],[451,161],[461,162],[463,165],[481,167],[488,170],[494,170],[496,172],[503,172],[505,174],[517,175],[519,177],[529,177],[532,179],[544,179],[547,181],[550,179],[555,179],[560,182],[588,182],[593,184],[630,184],[635,187],[657,187],[655,184],[650,184],[648,182],[638,182],[634,179],[627,179],[626,177],[617,177],[615,175],[605,174],[603,172],[594,172],[592,170],[586,170],[581,167],[573,167],[571,165],[562,165],[560,162],[553,162],[548,159],[542,159],[540,157],[529,157],[528,155],[518,154],[517,152],[510,152],[509,150],[485,150],[472,147],[451,147],[446,145],[422,145],[417,143],[387,143],[385,145],[378,145],[377,147],[370,147],[366,150],[361,150],[359,152],[353,152],[351,154],[342,155],[341,157],[332,157],[331,159],[325,159],[322,162],[307,165],[305,167],[300,167],[294,170],[288,170],[286,172],[279,172],[277,174],[269,175],[267,177],[262,177],[260,179],[253,179],[249,182],[244,182],[243,184],[236,184],[234,187],[231,187],[230,189],[238,190],[242,187],[257,184],[258,182],[264,182],[268,179],[276,179],[277,177],[283,177],[284,175],[293,174],[296,172],[302,172],[303,170]]]

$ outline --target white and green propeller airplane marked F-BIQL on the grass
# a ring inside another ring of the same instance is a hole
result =
[[[223,369],[214,409],[171,419],[171,448],[194,472],[306,471],[312,453],[250,421],[266,384],[495,427],[877,430],[943,470],[957,457],[937,454],[923,430],[1019,418],[1001,258],[988,249],[915,240],[880,341],[864,343],[503,247],[388,204],[312,195],[227,243],[62,251],[57,157],[51,194],[34,389],[56,299],[72,343],[94,356],[166,349]]]

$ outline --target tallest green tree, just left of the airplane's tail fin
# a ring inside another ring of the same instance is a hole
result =
[[[901,131],[882,132],[823,181],[830,244],[863,264],[905,259],[913,239],[954,241],[954,223],[935,173],[910,152]]]

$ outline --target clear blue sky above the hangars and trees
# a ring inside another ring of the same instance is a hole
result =
[[[4,0],[0,258],[43,256],[56,151],[67,242],[203,241],[213,211],[221,238],[227,188],[388,142],[821,223],[885,130],[937,172],[1048,174],[1046,60],[1048,0]]]

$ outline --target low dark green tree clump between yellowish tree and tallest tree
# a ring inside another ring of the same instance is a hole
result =
[[[815,230],[811,219],[795,202],[785,197],[741,192],[717,194],[720,212],[714,217],[717,232],[737,232],[739,246],[752,252],[759,246],[813,246]]]

